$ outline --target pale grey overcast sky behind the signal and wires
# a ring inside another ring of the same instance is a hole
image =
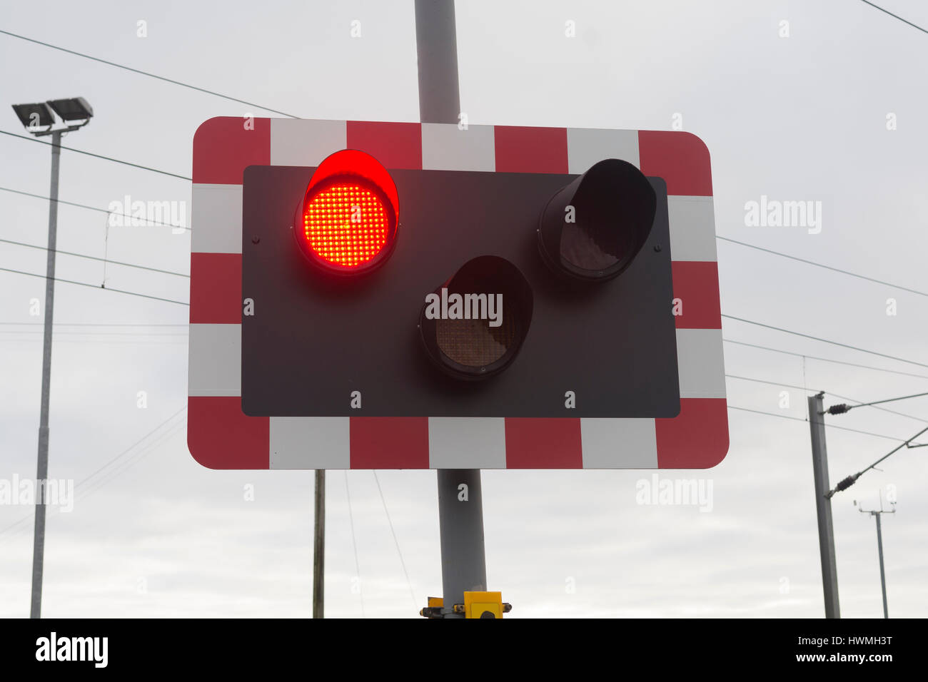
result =
[[[924,3],[880,4],[928,27]],[[669,130],[678,114],[711,151],[719,236],[928,291],[924,32],[850,0],[458,0],[457,15],[471,124]],[[0,29],[304,118],[419,118],[412,0],[4,3]],[[85,97],[95,117],[63,144],[180,175],[200,122],[277,115],[4,34],[0,95],[0,130],[18,134],[8,105]],[[49,156],[0,135],[0,187],[47,196]],[[190,183],[62,152],[60,199],[106,209],[125,195],[188,202]],[[762,195],[821,201],[820,233],[745,225],[745,203]],[[0,190],[0,238],[44,245],[47,209]],[[189,232],[106,221],[61,205],[58,249],[189,271]],[[928,391],[928,299],[725,241],[718,261],[723,314],[922,367],[724,320],[728,340],[796,354],[726,343],[729,375],[808,391],[728,379],[729,406],[777,416],[732,409],[722,464],[660,472],[711,481],[711,512],[638,505],[651,471],[485,471],[488,588],[512,617],[823,614],[805,396]],[[45,253],[0,243],[0,267],[41,274]],[[67,255],[58,277],[183,302],[189,286]],[[35,472],[42,317],[30,302],[44,290],[0,272],[0,479]],[[90,478],[71,513],[49,510],[43,615],[308,616],[313,474],[213,471],[190,457],[187,306],[66,283],[55,302],[49,476]],[[833,482],[928,421],[925,398],[886,407],[910,417],[861,407],[828,418],[879,434],[828,430]],[[853,504],[878,506],[881,492],[898,500],[883,521],[890,613],[928,613],[926,457],[903,449],[834,497],[845,617],[881,614],[874,523]],[[374,474],[329,471],[327,615],[417,617],[441,593],[435,473],[377,475],[396,543]],[[0,505],[0,558],[0,616],[27,616],[32,507]]]

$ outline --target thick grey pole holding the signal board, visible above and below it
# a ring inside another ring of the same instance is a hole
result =
[[[419,120],[457,123],[458,36],[454,0],[416,0]],[[463,618],[454,605],[465,591],[486,589],[483,495],[479,469],[438,470],[438,525],[442,545],[445,618]]]

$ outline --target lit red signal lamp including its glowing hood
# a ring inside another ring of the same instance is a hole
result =
[[[392,250],[396,186],[386,169],[364,152],[344,149],[319,164],[300,212],[297,243],[311,261],[329,272],[356,274],[372,269]]]

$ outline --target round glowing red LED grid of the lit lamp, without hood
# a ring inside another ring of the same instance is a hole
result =
[[[383,201],[359,184],[327,187],[303,211],[303,234],[310,249],[342,267],[359,267],[376,257],[389,232],[390,216]]]

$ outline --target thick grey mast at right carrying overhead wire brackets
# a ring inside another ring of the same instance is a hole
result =
[[[809,431],[812,435],[812,472],[815,475],[815,507],[818,514],[818,551],[821,554],[821,583],[825,593],[825,617],[841,618],[838,603],[838,567],[831,524],[828,478],[828,451],[825,448],[824,393],[809,396]]]

